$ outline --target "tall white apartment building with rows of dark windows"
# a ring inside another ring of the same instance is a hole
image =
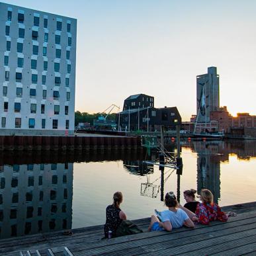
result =
[[[73,134],[77,20],[0,3],[0,134]]]

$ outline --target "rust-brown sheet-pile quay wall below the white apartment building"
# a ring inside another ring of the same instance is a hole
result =
[[[138,137],[0,136],[0,151],[142,149]]]

